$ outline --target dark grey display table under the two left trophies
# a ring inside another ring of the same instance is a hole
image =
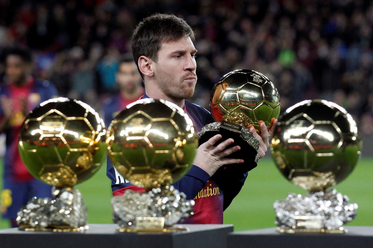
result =
[[[119,233],[115,224],[89,224],[84,233],[0,230],[0,247],[227,247],[233,225],[182,225],[189,232]]]

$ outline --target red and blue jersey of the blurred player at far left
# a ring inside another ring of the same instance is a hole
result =
[[[6,134],[6,153],[4,156],[4,182],[29,181],[34,179],[22,162],[18,152],[18,136],[21,130],[25,113],[34,109],[38,104],[57,96],[56,88],[44,80],[33,77],[23,86],[13,84],[3,85],[0,89],[0,99],[12,100],[12,116],[4,131]],[[0,119],[4,116],[4,109],[0,105]]]

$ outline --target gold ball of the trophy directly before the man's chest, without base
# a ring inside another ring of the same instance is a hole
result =
[[[117,171],[143,188],[182,178],[192,166],[198,140],[191,119],[167,101],[142,99],[110,124],[106,145]]]

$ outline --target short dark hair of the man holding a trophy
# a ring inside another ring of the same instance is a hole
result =
[[[135,28],[131,37],[132,54],[142,79],[144,75],[138,66],[138,59],[146,56],[157,62],[158,51],[163,42],[170,42],[188,36],[194,43],[194,32],[185,20],[168,14],[153,14],[144,18]]]

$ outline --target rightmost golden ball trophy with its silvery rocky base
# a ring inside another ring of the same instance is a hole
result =
[[[277,168],[308,191],[276,201],[279,232],[347,232],[357,204],[328,189],[345,179],[360,156],[361,138],[351,115],[333,102],[307,100],[279,118],[271,143]]]

